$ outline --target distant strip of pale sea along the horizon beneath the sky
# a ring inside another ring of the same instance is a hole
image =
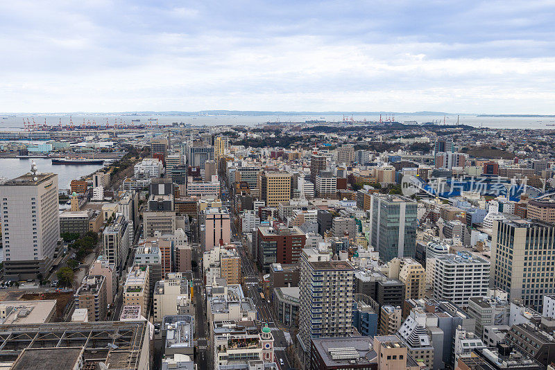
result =
[[[33,124],[42,125],[68,125],[71,122],[74,125],[82,125],[83,123],[93,123],[105,125],[108,121],[109,125],[114,123],[123,125],[132,125],[137,123],[152,123],[153,125],[169,125],[171,123],[185,123],[193,126],[217,126],[217,125],[258,125],[262,123],[289,123],[289,122],[305,122],[305,121],[327,121],[341,122],[344,118],[353,121],[379,121],[379,114],[355,114],[355,115],[339,115],[339,114],[294,114],[279,115],[272,114],[266,116],[258,115],[118,115],[118,114],[0,114],[0,130],[25,130],[24,121]],[[386,114],[382,114],[382,121],[386,121]],[[150,121],[149,121],[150,119]],[[139,120],[139,121],[137,121]],[[155,121],[157,120],[157,121]],[[435,122],[439,125],[443,123],[454,125],[457,123],[470,125],[474,127],[491,127],[491,128],[508,128],[508,129],[550,129],[555,130],[555,116],[540,117],[523,117],[523,116],[479,116],[479,115],[454,115],[441,116],[422,116],[411,114],[395,114],[395,121],[400,123],[427,123]],[[133,122],[135,121],[135,122]]]

